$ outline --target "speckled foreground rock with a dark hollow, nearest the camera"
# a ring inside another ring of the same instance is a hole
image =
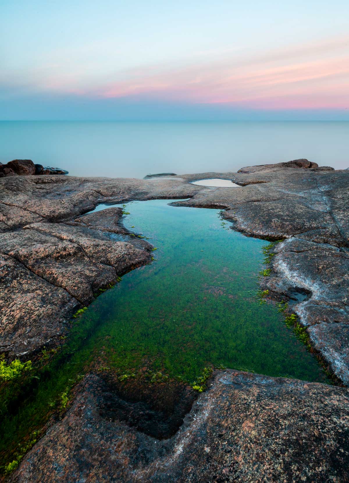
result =
[[[177,433],[160,440],[101,409],[112,394],[99,376],[80,387],[11,482],[349,480],[348,389],[218,372]]]

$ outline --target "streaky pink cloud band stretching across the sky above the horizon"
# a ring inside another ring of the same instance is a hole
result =
[[[233,52],[219,61],[137,66],[108,82],[74,72],[48,76],[46,90],[103,99],[138,97],[262,109],[342,109],[349,105],[349,37],[272,52]]]

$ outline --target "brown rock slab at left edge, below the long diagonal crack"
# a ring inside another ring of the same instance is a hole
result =
[[[65,330],[80,303],[12,256],[0,254],[0,352],[31,354]]]

